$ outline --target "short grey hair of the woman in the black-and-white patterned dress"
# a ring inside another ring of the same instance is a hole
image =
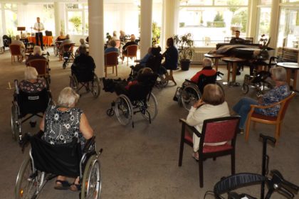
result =
[[[79,97],[80,95],[78,95],[71,87],[65,87],[61,90],[61,93],[59,93],[58,106],[66,108],[73,107],[78,102]]]

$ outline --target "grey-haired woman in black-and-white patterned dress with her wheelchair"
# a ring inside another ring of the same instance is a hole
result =
[[[100,152],[95,151],[88,119],[75,107],[78,98],[72,88],[65,87],[58,105],[46,110],[40,133],[29,136],[30,156],[20,168],[16,198],[36,198],[43,185],[56,176],[55,189],[81,190],[80,198],[100,197]],[[75,178],[73,184],[66,177]]]

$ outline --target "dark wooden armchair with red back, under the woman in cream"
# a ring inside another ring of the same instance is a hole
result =
[[[179,149],[179,166],[182,166],[182,158],[184,152],[184,144],[193,147],[192,133],[199,136],[199,186],[204,186],[204,160],[219,156],[231,156],[231,174],[235,173],[235,151],[236,151],[236,134],[238,131],[238,123],[240,117],[220,117],[215,119],[204,120],[201,133],[194,127],[189,126],[186,120],[180,119],[182,122],[182,135]],[[211,146],[212,144],[226,141],[226,144]],[[207,145],[209,143],[211,145]]]

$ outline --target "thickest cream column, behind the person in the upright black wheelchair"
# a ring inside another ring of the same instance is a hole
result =
[[[104,0],[88,0],[89,54],[95,60],[95,72],[104,77]]]

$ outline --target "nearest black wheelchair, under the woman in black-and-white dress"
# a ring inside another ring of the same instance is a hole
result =
[[[56,176],[80,178],[79,198],[100,198],[102,176],[95,136],[83,150],[77,138],[68,144],[48,144],[41,139],[42,131],[34,136],[24,136],[31,149],[19,169],[15,185],[15,198],[38,198],[43,187]]]

